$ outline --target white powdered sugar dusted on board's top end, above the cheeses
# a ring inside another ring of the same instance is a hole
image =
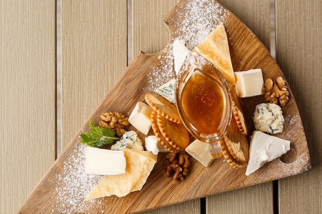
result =
[[[175,11],[176,19],[172,20],[176,29],[172,34],[166,51],[158,55],[160,63],[148,74],[151,90],[172,80],[175,77],[173,64],[173,41],[183,40],[186,47],[192,50],[219,24],[223,23],[229,11],[222,8],[217,2],[207,0],[193,1],[185,5],[184,10]]]

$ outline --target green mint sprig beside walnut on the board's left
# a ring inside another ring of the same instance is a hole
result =
[[[110,128],[94,126],[90,119],[91,131],[80,134],[81,143],[91,147],[102,148],[108,144],[112,144],[114,140],[119,140],[115,137],[115,131]]]

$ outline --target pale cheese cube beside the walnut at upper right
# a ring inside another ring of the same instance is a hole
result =
[[[264,94],[264,80],[261,69],[235,72],[236,92],[239,98]]]

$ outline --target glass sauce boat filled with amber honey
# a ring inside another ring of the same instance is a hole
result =
[[[177,75],[175,102],[193,137],[206,143],[224,137],[231,119],[228,84],[220,71],[198,53],[187,55]]]

